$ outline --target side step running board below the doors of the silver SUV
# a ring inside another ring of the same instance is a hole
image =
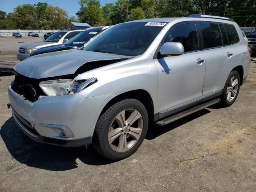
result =
[[[209,106],[211,106],[213,104],[216,104],[218,102],[220,102],[219,98],[218,99],[214,99],[212,101],[209,101],[209,102],[200,104],[198,106],[195,106],[193,108],[190,108],[190,109],[188,109],[186,111],[180,112],[180,113],[178,113],[178,114],[176,114],[174,116],[170,116],[170,117],[168,117],[166,119],[160,120],[160,121],[156,122],[155,124],[157,126],[165,126],[168,123],[174,122],[174,121],[176,121],[176,120],[178,120],[178,119],[180,119],[182,117],[185,117],[185,116],[190,115],[190,114],[192,114],[194,112],[200,111],[200,110],[202,110],[202,109],[204,109],[206,107],[209,107]]]

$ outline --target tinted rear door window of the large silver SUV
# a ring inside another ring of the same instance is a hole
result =
[[[216,23],[199,23],[204,39],[204,48],[222,46],[222,38],[219,25]]]

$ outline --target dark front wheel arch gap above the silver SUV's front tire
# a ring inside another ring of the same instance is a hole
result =
[[[150,94],[143,89],[131,90],[128,92],[124,92],[112,98],[102,109],[100,116],[108,109],[110,106],[118,102],[119,100],[125,98],[133,98],[139,100],[146,108],[148,112],[148,120],[150,122],[154,121],[154,103]],[[100,117],[99,116],[99,117]]]

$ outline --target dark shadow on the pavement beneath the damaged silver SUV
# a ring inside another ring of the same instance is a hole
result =
[[[151,125],[146,139],[154,139],[209,112],[204,109],[163,127]],[[0,135],[10,154],[21,164],[30,167],[52,171],[71,170],[78,167],[77,159],[93,166],[113,163],[98,154],[92,146],[88,146],[88,149],[85,147],[66,148],[37,143],[18,128],[12,117],[1,127]]]

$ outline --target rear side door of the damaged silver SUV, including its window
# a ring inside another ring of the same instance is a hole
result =
[[[224,26],[216,22],[198,22],[202,38],[202,51],[206,58],[203,96],[221,94],[232,64],[233,49],[228,45]]]

